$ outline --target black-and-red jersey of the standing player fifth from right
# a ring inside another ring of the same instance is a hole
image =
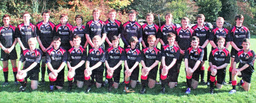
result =
[[[170,34],[170,33],[173,33],[175,34],[175,30],[177,29],[177,27],[172,23],[170,26],[166,26],[163,25],[160,27],[160,35],[161,35],[161,39],[163,40],[163,43],[164,44],[168,44],[168,40],[167,40],[167,35]]]

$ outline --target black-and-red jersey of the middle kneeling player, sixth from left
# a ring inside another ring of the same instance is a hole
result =
[[[136,62],[141,60],[141,51],[140,49],[131,49],[128,47],[125,49],[125,60],[127,60],[128,66],[133,66]]]

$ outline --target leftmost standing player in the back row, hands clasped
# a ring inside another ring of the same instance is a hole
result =
[[[4,83],[2,86],[7,86],[8,83],[8,60],[11,60],[12,63],[12,72],[14,75],[14,84],[18,85],[17,82],[17,52],[15,46],[17,44],[17,38],[15,38],[15,26],[10,24],[11,17],[8,14],[3,15],[3,26],[0,27],[0,48],[1,48],[1,58],[3,62],[3,76]]]

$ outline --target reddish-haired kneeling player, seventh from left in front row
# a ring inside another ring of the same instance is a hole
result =
[[[161,61],[161,52],[155,46],[156,37],[154,35],[149,35],[147,37],[148,47],[142,49],[141,53],[141,65],[143,69],[141,69],[141,84],[142,89],[140,90],[140,94],[145,93],[145,87],[154,88],[157,79],[157,71],[158,71],[158,63]]]

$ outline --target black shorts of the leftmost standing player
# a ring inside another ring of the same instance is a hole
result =
[[[16,52],[15,48],[9,54],[5,53],[3,51],[3,49],[1,49],[1,58],[0,58],[0,60],[6,61],[6,60],[16,60],[16,59],[17,59],[17,52]]]

